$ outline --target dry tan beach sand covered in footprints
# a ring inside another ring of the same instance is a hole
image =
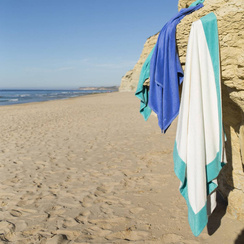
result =
[[[138,109],[133,93],[0,107],[0,243],[244,243],[223,204],[192,235],[176,123]]]

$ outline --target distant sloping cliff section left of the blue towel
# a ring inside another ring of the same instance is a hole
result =
[[[138,62],[132,70],[128,71],[125,76],[122,77],[119,91],[136,91],[142,65],[144,64],[148,54],[151,52],[154,45],[156,44],[157,38],[158,34],[151,36],[147,39]]]

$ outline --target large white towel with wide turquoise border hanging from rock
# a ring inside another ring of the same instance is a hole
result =
[[[218,27],[215,14],[210,13],[191,27],[173,153],[195,236],[216,206],[223,141]]]

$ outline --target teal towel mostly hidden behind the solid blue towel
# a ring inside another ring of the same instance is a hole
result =
[[[150,61],[152,58],[152,54],[154,52],[153,47],[152,51],[148,55],[146,61],[144,62],[142,69],[141,69],[141,74],[139,78],[139,82],[137,85],[137,90],[136,90],[136,97],[138,97],[141,100],[140,103],[140,113],[142,114],[143,118],[147,121],[152,110],[151,108],[148,107],[148,87],[144,86],[145,80],[149,78],[149,72],[150,72]]]

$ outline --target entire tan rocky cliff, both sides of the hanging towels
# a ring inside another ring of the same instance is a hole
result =
[[[179,0],[179,9],[193,0]],[[228,199],[227,211],[244,221],[244,0],[205,0],[204,7],[186,16],[177,27],[177,46],[184,68],[192,22],[214,12],[218,19],[221,55],[223,123],[228,164],[221,171],[219,190]],[[133,70],[122,78],[120,91],[135,91],[141,67],[157,41],[148,38]]]

